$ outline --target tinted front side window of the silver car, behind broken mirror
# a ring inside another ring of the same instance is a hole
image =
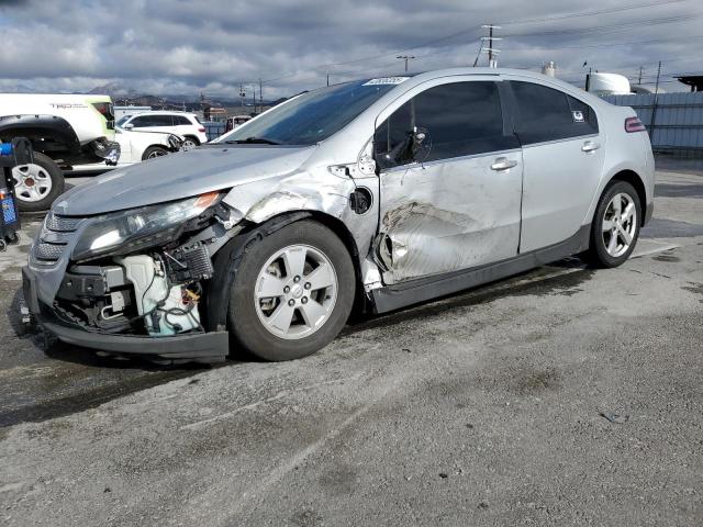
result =
[[[378,126],[373,138],[382,168],[413,160],[409,149],[400,155],[397,150],[415,127],[427,133],[423,161],[517,147],[514,137],[503,133],[498,83],[492,81],[436,86],[403,104]]]

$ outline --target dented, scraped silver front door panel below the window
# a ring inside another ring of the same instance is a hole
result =
[[[516,162],[491,166],[501,157]],[[520,149],[381,173],[377,255],[386,283],[490,264],[517,254]]]

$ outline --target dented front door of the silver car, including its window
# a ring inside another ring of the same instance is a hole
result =
[[[428,88],[377,127],[382,169],[373,250],[387,284],[516,256],[522,152],[504,131],[498,83]],[[389,166],[384,150],[409,125],[427,131],[421,159]]]

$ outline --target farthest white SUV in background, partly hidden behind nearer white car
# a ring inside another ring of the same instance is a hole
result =
[[[125,115],[120,120],[119,124],[124,130],[179,135],[183,137],[183,148],[187,150],[208,142],[205,127],[194,113],[165,111],[137,113],[135,115]]]

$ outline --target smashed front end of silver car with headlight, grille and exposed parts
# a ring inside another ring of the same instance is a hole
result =
[[[212,255],[242,218],[210,192],[92,217],[49,213],[24,268],[44,330],[118,355],[216,362],[226,332],[207,332]]]

